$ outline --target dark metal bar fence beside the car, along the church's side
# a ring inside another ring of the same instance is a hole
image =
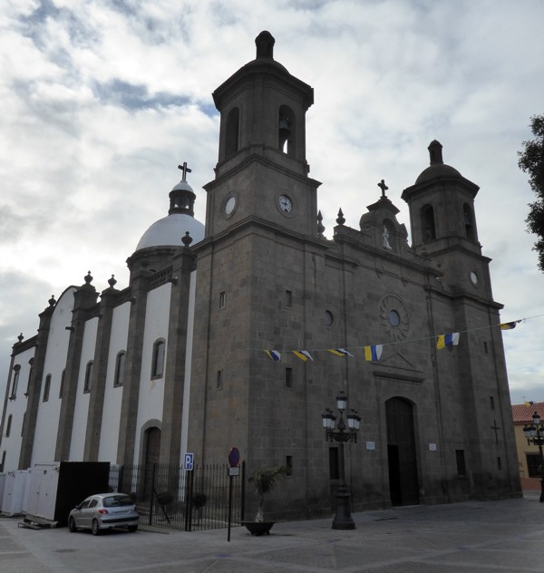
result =
[[[110,488],[131,495],[145,525],[196,531],[237,527],[244,519],[245,463],[238,476],[227,465],[110,466]]]

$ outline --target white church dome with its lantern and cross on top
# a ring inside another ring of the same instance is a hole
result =
[[[181,238],[189,233],[192,242],[198,243],[204,238],[204,225],[194,218],[196,195],[185,179],[190,170],[187,163],[179,166],[183,178],[170,191],[170,209],[168,216],[159,219],[142,235],[136,250],[150,247],[181,247]]]

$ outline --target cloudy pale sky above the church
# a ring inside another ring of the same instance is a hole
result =
[[[513,403],[544,401],[544,275],[525,230],[528,177],[517,165],[529,118],[544,113],[541,0],[3,0],[0,5],[0,388],[16,337],[36,334],[52,294],[100,291],[168,211],[187,161],[204,219],[219,116],[211,92],[255,58],[315,88],[311,177],[330,237],[342,208],[400,198],[444,161],[480,185],[476,217],[491,257]],[[536,317],[539,316],[539,317]],[[535,317],[535,318],[532,318]]]

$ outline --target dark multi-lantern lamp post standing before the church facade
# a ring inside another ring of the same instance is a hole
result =
[[[355,523],[349,510],[349,493],[345,487],[345,466],[344,466],[344,443],[357,442],[357,432],[361,425],[361,416],[350,410],[346,414],[347,432],[344,422],[344,412],[347,405],[347,396],[339,392],[336,396],[336,408],[340,412],[340,420],[335,429],[336,416],[328,408],[321,414],[323,429],[327,442],[338,442],[338,487],[336,489],[336,514],[333,520],[333,529],[355,529]]]

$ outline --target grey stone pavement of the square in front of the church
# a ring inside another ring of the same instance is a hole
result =
[[[137,533],[18,528],[0,518],[2,573],[544,573],[544,503],[523,499],[413,506],[354,515],[355,530],[332,520],[245,528]]]

